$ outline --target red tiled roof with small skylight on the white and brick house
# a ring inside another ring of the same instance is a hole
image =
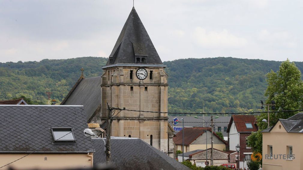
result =
[[[229,132],[232,122],[235,122],[238,133],[250,133],[258,131],[258,128],[255,125],[257,122],[254,115],[232,115],[228,124],[227,132]],[[251,123],[252,128],[246,128],[245,123]]]

